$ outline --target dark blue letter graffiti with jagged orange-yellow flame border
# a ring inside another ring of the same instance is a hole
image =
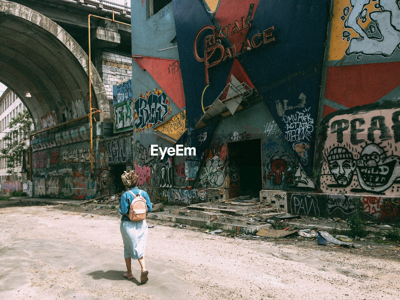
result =
[[[166,116],[171,114],[170,102],[162,90],[155,89],[146,92],[146,96],[140,94],[134,100],[134,130],[139,133],[150,127],[164,122]]]

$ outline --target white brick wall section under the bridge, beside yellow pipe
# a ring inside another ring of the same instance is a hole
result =
[[[112,99],[112,86],[121,80],[132,78],[132,58],[112,52],[102,53],[102,77],[108,99]]]

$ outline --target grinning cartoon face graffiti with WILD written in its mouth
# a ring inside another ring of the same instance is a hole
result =
[[[360,185],[365,190],[381,192],[400,177],[400,158],[386,156],[386,152],[376,144],[362,149],[357,160],[357,174]]]

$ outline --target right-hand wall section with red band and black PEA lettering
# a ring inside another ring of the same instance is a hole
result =
[[[334,3],[315,171],[322,192],[398,196],[399,7]]]

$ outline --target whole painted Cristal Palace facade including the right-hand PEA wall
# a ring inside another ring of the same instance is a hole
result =
[[[114,134],[132,135],[132,165],[152,200],[259,189],[288,192],[296,214],[346,216],[360,205],[371,218],[396,216],[398,6],[174,0],[152,17],[148,9],[132,1],[133,79],[114,87]],[[161,158],[152,144],[196,155]]]

